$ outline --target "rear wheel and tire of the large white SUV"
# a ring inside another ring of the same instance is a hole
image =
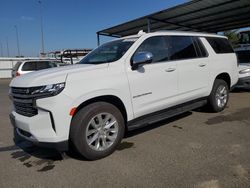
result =
[[[224,80],[216,79],[213,89],[208,97],[208,107],[212,112],[223,111],[228,103],[229,89]]]

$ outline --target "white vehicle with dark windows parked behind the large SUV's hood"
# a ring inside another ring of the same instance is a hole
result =
[[[54,60],[29,60],[17,62],[13,67],[11,75],[13,78],[33,71],[58,67],[58,63],[60,62]]]

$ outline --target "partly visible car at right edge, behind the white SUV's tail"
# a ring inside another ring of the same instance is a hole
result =
[[[250,44],[235,49],[239,61],[239,82],[237,88],[250,88]]]

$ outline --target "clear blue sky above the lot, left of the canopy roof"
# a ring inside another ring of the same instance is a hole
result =
[[[0,0],[0,56],[41,52],[40,8],[42,5],[45,52],[66,48],[95,48],[96,32],[160,11],[187,0]],[[111,40],[101,37],[101,42]]]

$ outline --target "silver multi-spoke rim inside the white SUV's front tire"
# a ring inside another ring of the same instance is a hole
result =
[[[110,113],[99,113],[88,123],[87,144],[96,151],[108,149],[117,139],[118,122]]]

